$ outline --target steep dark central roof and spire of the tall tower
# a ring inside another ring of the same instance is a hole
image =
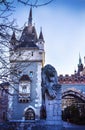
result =
[[[26,48],[38,49],[38,46],[36,45],[37,41],[38,39],[36,29],[35,26],[32,25],[32,7],[31,7],[28,19],[28,26],[24,27],[21,37],[19,39],[19,45],[16,48],[26,47]]]

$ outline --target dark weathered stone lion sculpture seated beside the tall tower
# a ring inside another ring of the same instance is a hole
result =
[[[55,68],[51,65],[46,65],[42,68],[42,113],[44,114],[42,117],[46,118],[46,111],[45,111],[45,94],[48,95],[50,100],[56,98],[57,90],[61,86],[58,84],[58,77]]]

